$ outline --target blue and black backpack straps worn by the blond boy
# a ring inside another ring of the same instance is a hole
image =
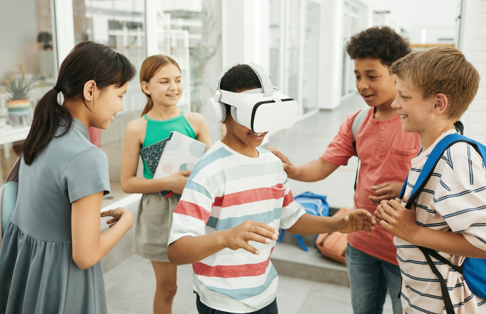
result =
[[[444,137],[444,139],[440,140],[437,145],[434,147],[432,150],[431,154],[427,158],[427,161],[425,162],[424,167],[422,168],[422,171],[418,175],[417,182],[415,183],[414,188],[412,189],[412,192],[410,193],[410,197],[407,201],[407,204],[405,205],[405,208],[411,209],[412,205],[414,204],[415,200],[417,199],[418,194],[420,194],[420,191],[424,188],[425,184],[431,177],[435,166],[439,162],[440,158],[442,155],[444,155],[444,152],[450,148],[453,144],[458,143],[458,142],[466,142],[471,144],[474,149],[481,155],[483,160],[486,163],[486,146],[475,141],[471,140],[463,135],[459,134],[450,134]],[[420,153],[419,153],[420,154]],[[408,179],[408,176],[407,176]],[[402,187],[402,191],[400,192],[400,198],[403,197],[403,194],[405,192],[405,187],[407,185],[407,180],[405,180],[405,183]],[[448,264],[451,268],[455,269],[457,272],[462,274],[462,267],[453,265],[451,264],[450,261],[448,261],[446,258],[444,258],[442,255],[440,255],[438,252],[427,248],[427,247],[422,247],[422,246],[417,246],[418,249],[422,252],[424,255],[427,263],[429,264],[429,267],[431,268],[432,272],[434,275],[439,279],[440,283],[440,289],[442,291],[442,297],[444,300],[444,306],[446,309],[447,314],[454,314],[454,307],[452,305],[451,297],[449,295],[449,290],[447,288],[447,282],[442,277],[440,272],[437,270],[437,267],[435,266],[434,262],[430,258],[431,256],[434,257],[437,261],[443,262]]]

